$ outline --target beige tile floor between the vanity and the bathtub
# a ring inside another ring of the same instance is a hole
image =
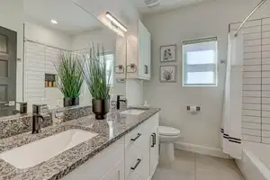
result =
[[[233,160],[176,150],[172,164],[157,167],[153,180],[245,180]]]

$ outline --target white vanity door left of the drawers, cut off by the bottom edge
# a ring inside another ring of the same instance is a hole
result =
[[[124,159],[114,166],[101,180],[124,180]]]

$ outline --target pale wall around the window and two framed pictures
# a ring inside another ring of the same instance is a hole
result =
[[[242,21],[259,1],[218,0],[143,17],[152,35],[152,79],[144,83],[144,97],[152,106],[162,109],[162,124],[181,130],[181,141],[220,148],[225,78],[225,65],[219,64],[217,87],[183,87],[182,41],[217,36],[219,60],[227,58],[229,23]],[[269,7],[267,1],[252,18],[270,17]],[[177,45],[177,83],[159,83],[159,47],[166,44]],[[202,105],[202,112],[197,115],[186,112],[186,106],[193,104]]]

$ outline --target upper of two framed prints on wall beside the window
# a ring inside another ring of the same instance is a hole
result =
[[[160,62],[176,61],[176,44],[160,46]]]

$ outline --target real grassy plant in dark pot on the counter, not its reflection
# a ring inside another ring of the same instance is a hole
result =
[[[100,52],[99,46],[97,50],[94,46],[90,49],[89,56],[82,55],[83,60],[80,61],[80,67],[83,72],[85,84],[88,86],[92,95],[92,110],[95,119],[103,120],[110,109],[110,79],[112,70],[106,71],[106,59],[104,51]]]

